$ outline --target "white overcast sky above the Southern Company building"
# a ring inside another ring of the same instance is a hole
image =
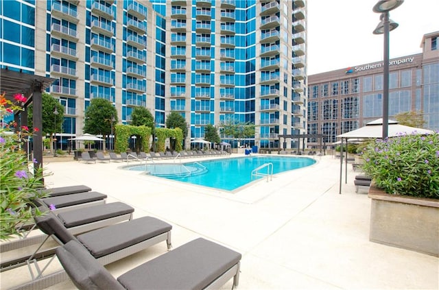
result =
[[[383,34],[372,31],[377,0],[307,1],[307,74],[324,73],[383,60]],[[390,59],[421,53],[424,34],[439,31],[438,0],[405,0],[390,11],[399,23],[390,32]]]

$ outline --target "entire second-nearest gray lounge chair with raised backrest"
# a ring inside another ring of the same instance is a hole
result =
[[[79,234],[77,237],[73,237],[54,213],[49,212],[47,215],[35,217],[35,221],[40,230],[53,237],[60,245],[73,241],[73,243],[80,245],[84,250],[86,248],[89,254],[94,257],[92,258],[91,256],[91,260],[95,263],[99,262],[97,265],[107,265],[145,250],[145,248],[161,241],[167,241],[167,249],[171,249],[172,226],[154,217],[132,219],[106,228],[99,228]],[[75,263],[74,260],[72,260],[72,263]],[[39,268],[36,267],[36,269]],[[64,270],[56,271],[46,276],[43,276],[43,271],[38,271],[38,276],[25,285],[21,285],[21,288],[47,288],[68,278]],[[104,287],[102,289],[110,288]]]

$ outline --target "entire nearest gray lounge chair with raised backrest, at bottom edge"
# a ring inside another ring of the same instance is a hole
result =
[[[241,254],[205,239],[195,239],[114,278],[77,241],[56,255],[78,289],[217,289],[239,283]]]

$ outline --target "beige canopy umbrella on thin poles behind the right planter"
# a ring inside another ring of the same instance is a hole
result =
[[[388,136],[396,137],[401,136],[403,134],[432,134],[434,133],[431,130],[426,130],[423,128],[414,128],[406,125],[401,125],[398,121],[389,120],[388,125]],[[342,138],[342,150],[340,152],[340,191],[342,193],[342,171],[343,171],[343,140],[347,140],[348,138],[381,138],[383,136],[383,119],[377,119],[375,121],[371,121],[367,123],[364,127],[361,127],[357,130],[352,130],[350,132],[346,132],[344,134],[340,134],[337,137]],[[347,172],[348,172],[348,160],[347,160],[347,152],[346,152],[346,180],[345,183],[348,183],[347,180]]]

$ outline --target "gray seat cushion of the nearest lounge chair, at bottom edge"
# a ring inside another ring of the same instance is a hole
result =
[[[117,280],[126,289],[204,289],[241,260],[241,254],[195,239],[140,265]]]

